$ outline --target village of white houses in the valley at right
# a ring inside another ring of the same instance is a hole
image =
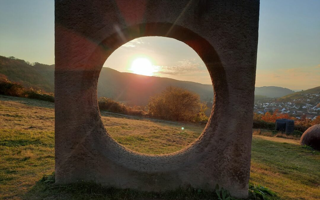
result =
[[[279,110],[281,114],[301,119],[306,116],[307,119],[314,120],[320,115],[320,92],[301,93],[302,97],[292,100],[279,101],[273,100],[255,100],[253,110],[257,114],[271,114]]]

